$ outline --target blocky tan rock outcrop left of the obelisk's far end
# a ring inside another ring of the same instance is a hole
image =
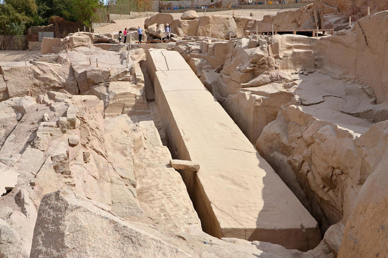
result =
[[[36,98],[47,91],[59,90],[75,95],[90,94],[94,87],[116,81],[128,81],[142,88],[142,75],[132,68],[145,54],[139,50],[126,54],[101,51],[91,45],[93,36],[81,33],[62,39],[62,50],[54,63],[39,59],[30,60],[27,66],[24,62],[4,63],[0,67],[0,99],[26,95]]]

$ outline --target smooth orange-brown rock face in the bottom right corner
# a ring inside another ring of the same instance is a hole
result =
[[[386,122],[377,123],[381,129]],[[381,136],[381,135],[380,135]],[[385,135],[383,136],[385,142]],[[387,183],[386,152],[382,154],[374,172],[365,181],[359,192],[354,209],[347,222],[344,239],[338,257],[384,256],[388,248],[386,232]]]

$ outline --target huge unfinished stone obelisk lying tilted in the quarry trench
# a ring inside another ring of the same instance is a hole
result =
[[[183,58],[174,51],[160,52],[159,57],[158,51],[150,50],[147,63],[141,63],[146,96],[149,96],[149,103],[153,103],[154,96],[150,97],[150,86],[153,85],[161,116],[161,121],[156,125],[161,136],[165,135],[168,139],[164,143],[173,158],[193,160],[201,165],[197,174],[190,171],[180,171],[180,174],[203,230],[218,238],[268,241],[303,251],[314,248],[321,240],[315,220],[259,156]],[[144,68],[146,65],[147,71]],[[204,107],[198,109],[197,96],[202,101],[209,99],[209,104],[202,102]],[[176,101],[177,106],[174,106]],[[179,104],[179,101],[182,102]],[[194,106],[197,106],[197,110],[192,112]],[[231,132],[230,138],[227,135]],[[211,137],[212,134],[214,137]],[[220,139],[219,135],[226,136]],[[215,153],[219,155],[210,158],[210,154]],[[265,172],[258,173],[258,170]],[[264,185],[255,181],[254,178],[258,176],[263,178]],[[238,177],[242,181],[236,179]],[[226,182],[232,188],[225,188]],[[235,192],[233,197],[230,196],[231,192]],[[222,198],[226,198],[225,201]],[[279,200],[284,200],[284,203]],[[255,215],[255,207],[258,208],[259,217]],[[286,217],[282,218],[283,214]],[[252,219],[253,223],[250,222]],[[276,230],[273,231],[271,227]],[[282,242],[286,235],[293,235],[295,241],[288,239]]]

